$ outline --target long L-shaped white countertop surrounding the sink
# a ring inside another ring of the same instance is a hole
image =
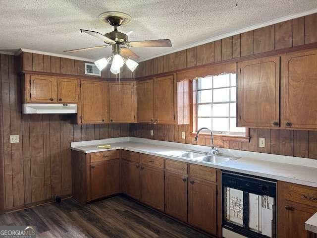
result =
[[[105,144],[110,144],[112,150],[130,150],[226,171],[317,187],[317,160],[314,159],[220,149],[220,153],[223,155],[237,156],[241,158],[221,164],[211,164],[208,162],[200,162],[171,155],[175,152],[186,150],[209,152],[210,147],[208,146],[157,141],[136,137],[120,137],[105,140],[72,142],[71,149],[83,153],[109,150],[97,148],[98,145]]]

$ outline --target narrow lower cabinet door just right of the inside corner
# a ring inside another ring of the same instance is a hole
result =
[[[122,192],[140,200],[140,165],[122,162]]]

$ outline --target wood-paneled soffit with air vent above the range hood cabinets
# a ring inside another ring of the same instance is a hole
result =
[[[86,61],[72,60],[67,58],[60,58],[55,56],[34,54],[34,53],[28,53],[28,52],[23,52],[21,55],[22,55],[22,70],[24,71],[85,76],[85,62]],[[122,67],[121,71],[122,71],[120,73],[121,78],[129,78],[129,79],[135,78],[135,71],[131,72],[130,69],[126,67],[126,65]],[[86,76],[91,77],[91,75],[86,75]],[[102,71],[101,77],[115,78],[115,74],[110,73],[109,65]]]

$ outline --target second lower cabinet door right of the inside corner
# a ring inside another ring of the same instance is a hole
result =
[[[141,201],[164,211],[164,171],[141,167]]]

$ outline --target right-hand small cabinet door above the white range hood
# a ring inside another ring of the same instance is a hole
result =
[[[78,81],[73,78],[57,78],[57,95],[60,103],[78,102]]]

